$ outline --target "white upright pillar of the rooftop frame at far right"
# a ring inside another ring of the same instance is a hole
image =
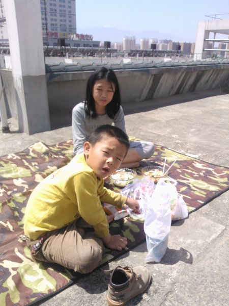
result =
[[[207,52],[208,42],[205,39],[209,38],[210,31],[205,30],[205,21],[199,21],[195,40],[194,60],[205,59]]]

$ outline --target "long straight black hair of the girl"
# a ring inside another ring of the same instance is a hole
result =
[[[119,82],[116,77],[115,72],[112,69],[106,67],[101,67],[96,69],[89,77],[86,89],[86,98],[84,104],[84,110],[89,118],[97,118],[97,113],[95,110],[95,100],[93,98],[93,86],[97,80],[105,79],[107,82],[115,85],[115,92],[110,103],[106,106],[106,113],[110,118],[114,118],[118,113],[121,104]]]

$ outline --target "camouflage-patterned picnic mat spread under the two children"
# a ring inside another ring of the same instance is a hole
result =
[[[35,186],[51,172],[66,165],[71,158],[72,140],[46,145],[36,142],[16,154],[0,158],[0,305],[40,304],[46,298],[71,286],[79,273],[57,264],[38,263],[18,236],[23,234],[23,216],[28,197]],[[170,165],[169,176],[178,181],[177,189],[184,197],[189,212],[205,205],[228,189],[228,168],[185,156],[156,145],[153,157],[141,166]],[[136,168],[138,178],[141,167]],[[119,188],[107,185],[110,189]],[[144,220],[124,219],[122,235],[128,238],[123,251],[106,250],[102,265],[128,252],[145,241]]]

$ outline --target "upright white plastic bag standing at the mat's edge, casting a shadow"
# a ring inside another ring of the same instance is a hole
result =
[[[159,263],[166,252],[171,228],[170,196],[173,196],[174,184],[176,185],[176,181],[173,179],[160,179],[153,194],[146,199],[144,222],[148,249],[146,262]]]

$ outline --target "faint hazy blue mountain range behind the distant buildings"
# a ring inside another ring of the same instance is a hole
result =
[[[187,41],[184,37],[178,37],[168,33],[161,33],[158,31],[144,31],[144,32],[134,32],[131,30],[121,30],[109,27],[96,27],[89,29],[77,28],[78,34],[91,34],[93,35],[93,40],[111,41],[111,42],[122,42],[124,36],[135,36],[136,43],[140,43],[141,38],[157,38],[157,39],[171,39],[172,41]]]

